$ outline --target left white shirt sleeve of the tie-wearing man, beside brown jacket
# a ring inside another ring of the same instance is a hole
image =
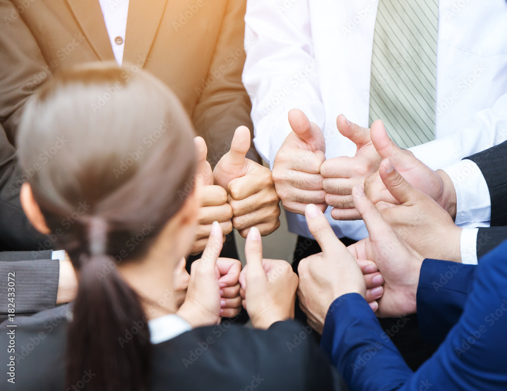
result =
[[[320,128],[320,97],[307,1],[280,10],[280,2],[248,2],[243,84],[251,98],[254,143],[273,168],[276,153],[292,131],[288,112],[305,110]],[[267,28],[269,27],[269,28]]]

